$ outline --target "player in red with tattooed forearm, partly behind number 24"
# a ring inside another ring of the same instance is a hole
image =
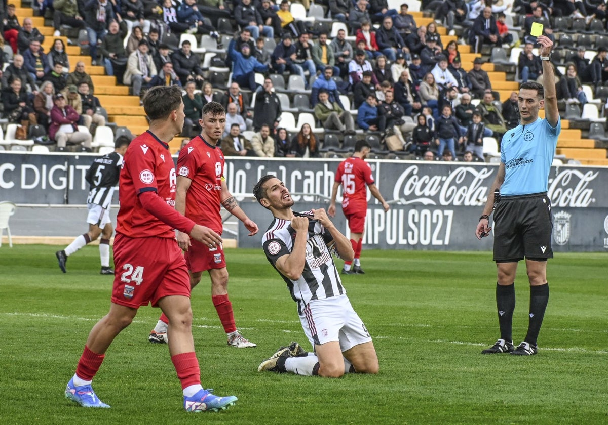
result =
[[[249,230],[249,236],[253,236],[258,233],[258,226],[247,217],[228,191],[224,178],[224,155],[219,146],[216,146],[226,126],[224,107],[217,102],[207,103],[202,108],[199,124],[202,127],[201,134],[192,138],[179,151],[175,209],[221,236],[223,225],[220,209],[223,205],[243,222]],[[204,271],[209,271],[211,299],[226,332],[228,345],[237,348],[256,347],[256,344],[238,332],[235,325],[232,303],[228,299],[228,271],[222,244],[208,246],[196,240],[191,241],[182,232],[178,233],[178,244],[185,251],[190,288],[201,281]],[[167,316],[162,315],[148,336],[150,342],[167,342],[167,322]]]

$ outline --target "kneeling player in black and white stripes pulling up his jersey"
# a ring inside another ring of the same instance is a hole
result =
[[[262,237],[266,258],[285,280],[314,353],[292,342],[281,347],[258,371],[292,372],[339,378],[348,372],[378,373],[370,334],[354,311],[331,253],[352,260],[350,241],[325,209],[294,213],[289,190],[274,175],[255,185],[254,195],[274,220]]]

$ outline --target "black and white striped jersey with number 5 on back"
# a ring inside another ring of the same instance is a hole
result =
[[[118,152],[95,158],[85,175],[86,181],[91,185],[87,203],[108,208],[112,203],[114,187],[118,185],[121,167],[122,155]]]

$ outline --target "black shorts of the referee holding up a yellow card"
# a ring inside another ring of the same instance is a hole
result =
[[[494,261],[553,258],[547,192],[503,196],[494,212]]]

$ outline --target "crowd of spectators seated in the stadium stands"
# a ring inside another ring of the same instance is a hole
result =
[[[298,2],[306,10],[311,7],[307,0]],[[331,21],[309,25],[294,17],[288,0],[33,1],[36,13],[52,19],[55,37],[66,26],[86,30],[92,64],[104,66],[118,84],[131,86],[131,94],[141,96],[156,85],[182,86],[184,135],[196,134],[202,107],[218,101],[227,110],[221,144],[225,154],[258,157],[318,157],[322,134],[335,132],[342,138],[363,131],[381,141],[394,136],[392,150],[424,159],[433,151],[438,157],[449,152],[452,158],[467,152],[465,157],[483,160],[483,137],[499,139],[519,123],[517,94],[499,101],[482,69],[485,60],[475,58],[467,72],[459,43],[468,43],[472,52],[521,43],[516,77],[523,82],[542,73],[534,53],[534,24],[544,25],[551,38],[556,18],[582,19],[587,25],[596,20],[606,27],[606,6],[594,0],[423,0],[421,9],[434,13],[427,25],[416,24],[406,3],[399,10],[390,9],[387,0],[316,5],[322,5],[326,17],[344,22],[354,41],[344,29],[330,38]],[[505,11],[511,10],[524,16],[516,42],[515,30],[506,24]],[[12,4],[3,13],[1,33],[13,52],[12,60],[2,58],[3,117],[43,127],[58,149],[67,143],[89,149],[95,128],[106,123],[85,64],[79,62],[69,72],[62,39],[56,38],[44,52],[44,36],[31,18],[19,19]],[[221,36],[222,19],[232,22],[229,31],[238,29],[234,36]],[[461,29],[459,41],[444,43],[438,25],[449,35]],[[215,60],[231,72],[227,87],[208,80],[204,56],[193,52],[188,38],[170,46],[171,35],[179,39],[182,34],[218,41]],[[568,53],[564,75],[556,72],[558,97],[567,103],[587,102],[582,84],[595,89],[608,80],[606,47],[599,46],[592,60],[584,46]],[[275,88],[276,76],[282,84]],[[300,85],[290,89],[285,82],[294,76]],[[305,104],[297,112],[312,114],[315,122],[296,129],[282,126],[281,92],[303,95]]]

